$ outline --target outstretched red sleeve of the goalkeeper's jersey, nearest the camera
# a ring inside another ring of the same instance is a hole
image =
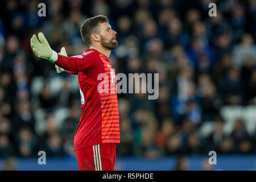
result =
[[[54,64],[72,74],[77,72],[86,72],[94,67],[94,61],[91,59],[89,53],[87,55],[82,55],[81,53],[72,57],[58,55],[58,59]]]

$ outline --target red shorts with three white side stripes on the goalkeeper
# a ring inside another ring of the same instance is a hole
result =
[[[75,151],[79,171],[114,171],[115,144],[96,144]]]

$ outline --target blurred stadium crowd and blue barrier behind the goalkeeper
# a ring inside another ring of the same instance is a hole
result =
[[[159,73],[158,100],[118,94],[118,170],[256,169],[256,1],[8,0],[0,9],[0,169],[77,170],[77,76],[35,57],[30,38],[42,31],[52,49],[76,55],[86,48],[80,24],[98,14],[117,31],[115,74]]]

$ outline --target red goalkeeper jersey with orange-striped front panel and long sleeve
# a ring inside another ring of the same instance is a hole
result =
[[[85,49],[72,57],[58,55],[54,64],[78,75],[82,113],[75,132],[75,150],[120,143],[117,80],[108,57],[96,49]]]

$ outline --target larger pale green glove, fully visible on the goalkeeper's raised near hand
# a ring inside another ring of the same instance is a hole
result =
[[[34,34],[30,39],[30,45],[35,55],[47,59],[52,63],[55,62],[58,59],[57,52],[51,49],[42,32],[39,32],[38,38],[36,38],[36,35]]]

